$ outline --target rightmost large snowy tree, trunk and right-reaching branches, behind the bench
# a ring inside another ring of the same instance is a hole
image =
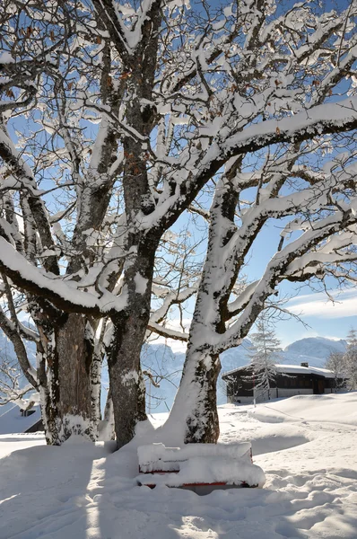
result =
[[[217,439],[219,354],[239,346],[284,280],[324,283],[335,276],[354,282],[354,164],[351,155],[346,162],[345,154],[336,155],[317,171],[306,157],[313,151],[318,159],[320,146],[313,141],[276,147],[254,171],[236,160],[217,182],[186,364],[170,414],[178,422],[185,410],[187,442]],[[269,222],[273,244],[276,234],[272,258],[262,264],[260,278],[244,284],[245,263],[259,257],[256,240]]]

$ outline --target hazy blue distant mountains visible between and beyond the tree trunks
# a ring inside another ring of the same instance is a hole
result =
[[[223,352],[221,355],[222,373],[247,365],[249,362],[249,346],[250,340],[244,339],[238,348]],[[313,367],[324,367],[332,351],[344,352],[346,346],[345,340],[331,340],[325,337],[308,337],[296,340],[280,353],[279,363],[300,365],[301,362],[308,362]],[[4,350],[9,356],[14,357],[11,343],[6,339],[4,333],[0,331],[0,354],[2,351],[4,353]],[[29,343],[29,351],[30,358],[34,360],[35,347],[33,343]],[[154,379],[160,384],[160,387],[155,387],[149,381],[147,382],[149,411],[158,412],[170,409],[179,386],[184,361],[185,354],[174,354],[169,346],[164,344],[144,345],[142,352],[143,369],[150,371]],[[103,372],[103,385],[108,387],[108,373],[106,371]],[[217,399],[220,404],[226,402],[224,383],[221,377],[218,382]],[[102,405],[104,405],[104,402],[105,391],[103,391],[102,395]],[[3,413],[4,409],[0,412]]]

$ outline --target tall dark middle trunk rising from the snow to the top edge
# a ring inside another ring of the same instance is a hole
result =
[[[126,57],[127,74],[130,74],[126,83],[126,123],[143,138],[128,134],[123,139],[123,188],[128,231],[126,252],[130,254],[125,261],[122,278],[127,301],[126,309],[112,317],[114,331],[107,350],[118,447],[134,437],[138,421],[147,419],[140,353],[150,318],[155,252],[163,230],[156,230],[148,237],[145,232],[140,232],[140,220],[155,209],[148,180],[145,138],[150,137],[152,121],[157,113],[149,103],[157,68],[161,20],[161,2],[154,0],[146,13],[142,39],[135,55]]]

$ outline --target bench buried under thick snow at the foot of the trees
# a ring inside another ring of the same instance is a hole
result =
[[[163,444],[137,449],[139,485],[154,488],[164,484],[208,494],[215,489],[262,487],[266,477],[252,464],[249,442],[242,444],[188,444],[165,447]]]

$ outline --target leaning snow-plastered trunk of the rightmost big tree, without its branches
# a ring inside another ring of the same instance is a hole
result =
[[[216,443],[220,435],[217,378],[221,362],[206,344],[203,335],[207,331],[210,334],[225,331],[226,305],[236,276],[233,270],[228,270],[229,252],[225,252],[224,248],[237,228],[234,218],[238,190],[231,179],[239,163],[233,163],[231,171],[226,172],[226,181],[221,179],[213,198],[207,254],[190,328],[187,356],[168,420],[172,426],[174,423],[184,425],[181,437],[186,444]]]

